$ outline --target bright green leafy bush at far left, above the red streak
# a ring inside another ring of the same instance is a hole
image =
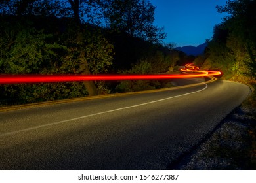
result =
[[[9,35],[5,35],[9,37]],[[3,37],[5,37],[3,36]],[[54,50],[65,49],[56,42],[48,43],[51,35],[45,35],[43,31],[35,29],[22,29],[12,37],[12,42],[1,42],[1,48],[5,47],[7,52],[1,53],[0,63],[3,73],[51,73],[54,65],[58,61],[58,56]]]

